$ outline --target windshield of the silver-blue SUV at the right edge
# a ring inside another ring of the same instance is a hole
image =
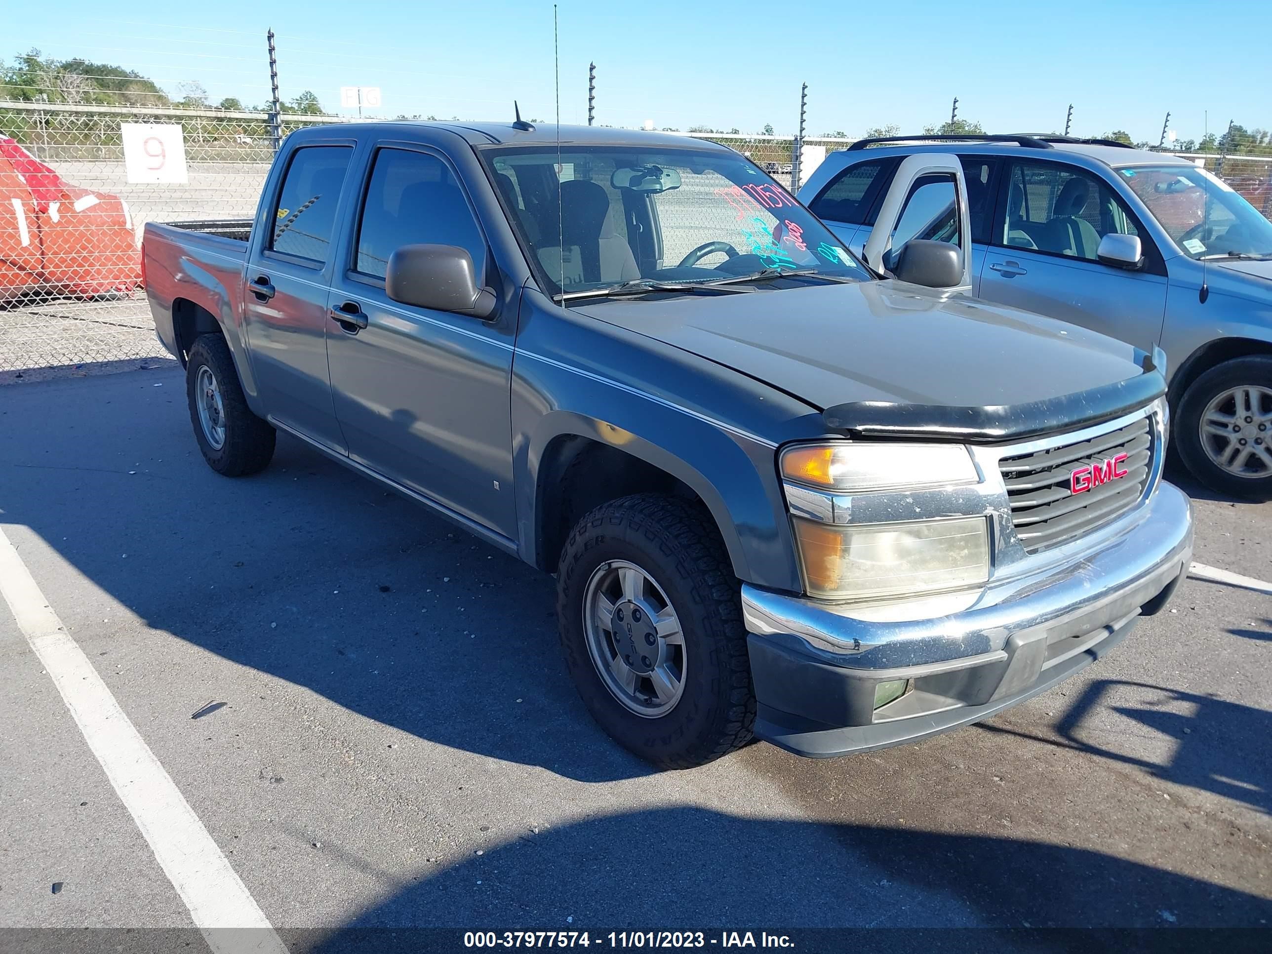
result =
[[[1191,258],[1272,256],[1272,223],[1216,176],[1194,165],[1118,169],[1152,218]]]

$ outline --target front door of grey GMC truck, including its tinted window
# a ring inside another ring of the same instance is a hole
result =
[[[389,256],[407,244],[458,245],[478,287],[499,284],[464,186],[441,153],[385,140],[374,145],[360,195],[327,322],[350,457],[511,538],[515,313],[487,322],[404,305],[384,290]]]

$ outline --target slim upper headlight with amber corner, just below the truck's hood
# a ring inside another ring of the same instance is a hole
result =
[[[782,476],[810,487],[862,494],[976,483],[962,444],[796,444],[782,453]]]

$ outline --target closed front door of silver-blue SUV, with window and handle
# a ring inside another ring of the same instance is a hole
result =
[[[1000,191],[979,294],[1151,350],[1161,336],[1166,270],[1135,215],[1099,176],[1013,159]],[[1144,265],[1103,265],[1100,238],[1138,235]]]

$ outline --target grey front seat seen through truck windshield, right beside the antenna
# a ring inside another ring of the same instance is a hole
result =
[[[561,247],[565,248],[565,261],[577,249],[576,268],[566,268],[570,277],[585,282],[618,282],[640,277],[640,266],[632,254],[627,239],[614,232],[609,196],[595,182],[570,179],[561,183],[561,219],[557,229],[561,234]],[[544,229],[547,234],[550,230]],[[561,248],[543,247],[539,259],[550,273],[556,273],[560,266]],[[579,279],[581,272],[581,279]]]

